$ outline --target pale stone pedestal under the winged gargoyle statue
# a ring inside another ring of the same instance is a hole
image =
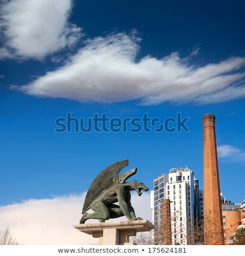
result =
[[[133,245],[130,236],[150,231],[154,225],[147,220],[74,224],[79,231],[99,237],[99,245]]]

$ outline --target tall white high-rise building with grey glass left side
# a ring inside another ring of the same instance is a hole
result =
[[[155,243],[160,243],[161,240],[163,199],[170,200],[172,244],[193,243],[194,224],[201,219],[202,200],[199,197],[198,179],[195,179],[193,170],[188,167],[172,168],[169,173],[163,173],[154,179],[151,205],[154,224],[158,227]]]

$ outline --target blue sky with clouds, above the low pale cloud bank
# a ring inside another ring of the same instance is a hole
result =
[[[185,165],[202,188],[206,113],[216,115],[223,196],[244,200],[243,1],[1,5],[1,206],[82,193],[122,159],[150,189],[158,175]],[[96,113],[147,113],[172,120],[170,128],[181,113],[188,131],[155,132],[148,123],[150,132],[75,132],[72,123],[71,132],[56,132],[68,113],[85,122]]]

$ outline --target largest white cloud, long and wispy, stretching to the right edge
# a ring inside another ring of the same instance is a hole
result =
[[[245,96],[245,58],[225,59],[199,68],[177,53],[163,59],[146,56],[136,62],[139,45],[124,33],[98,37],[66,65],[47,72],[26,86],[12,87],[35,96],[62,97],[81,102],[140,99],[143,105],[164,101],[210,103]],[[191,56],[190,56],[191,58]]]

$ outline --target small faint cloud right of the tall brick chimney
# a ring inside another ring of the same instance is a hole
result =
[[[220,145],[217,147],[218,157],[229,161],[244,162],[245,152],[232,145]]]

